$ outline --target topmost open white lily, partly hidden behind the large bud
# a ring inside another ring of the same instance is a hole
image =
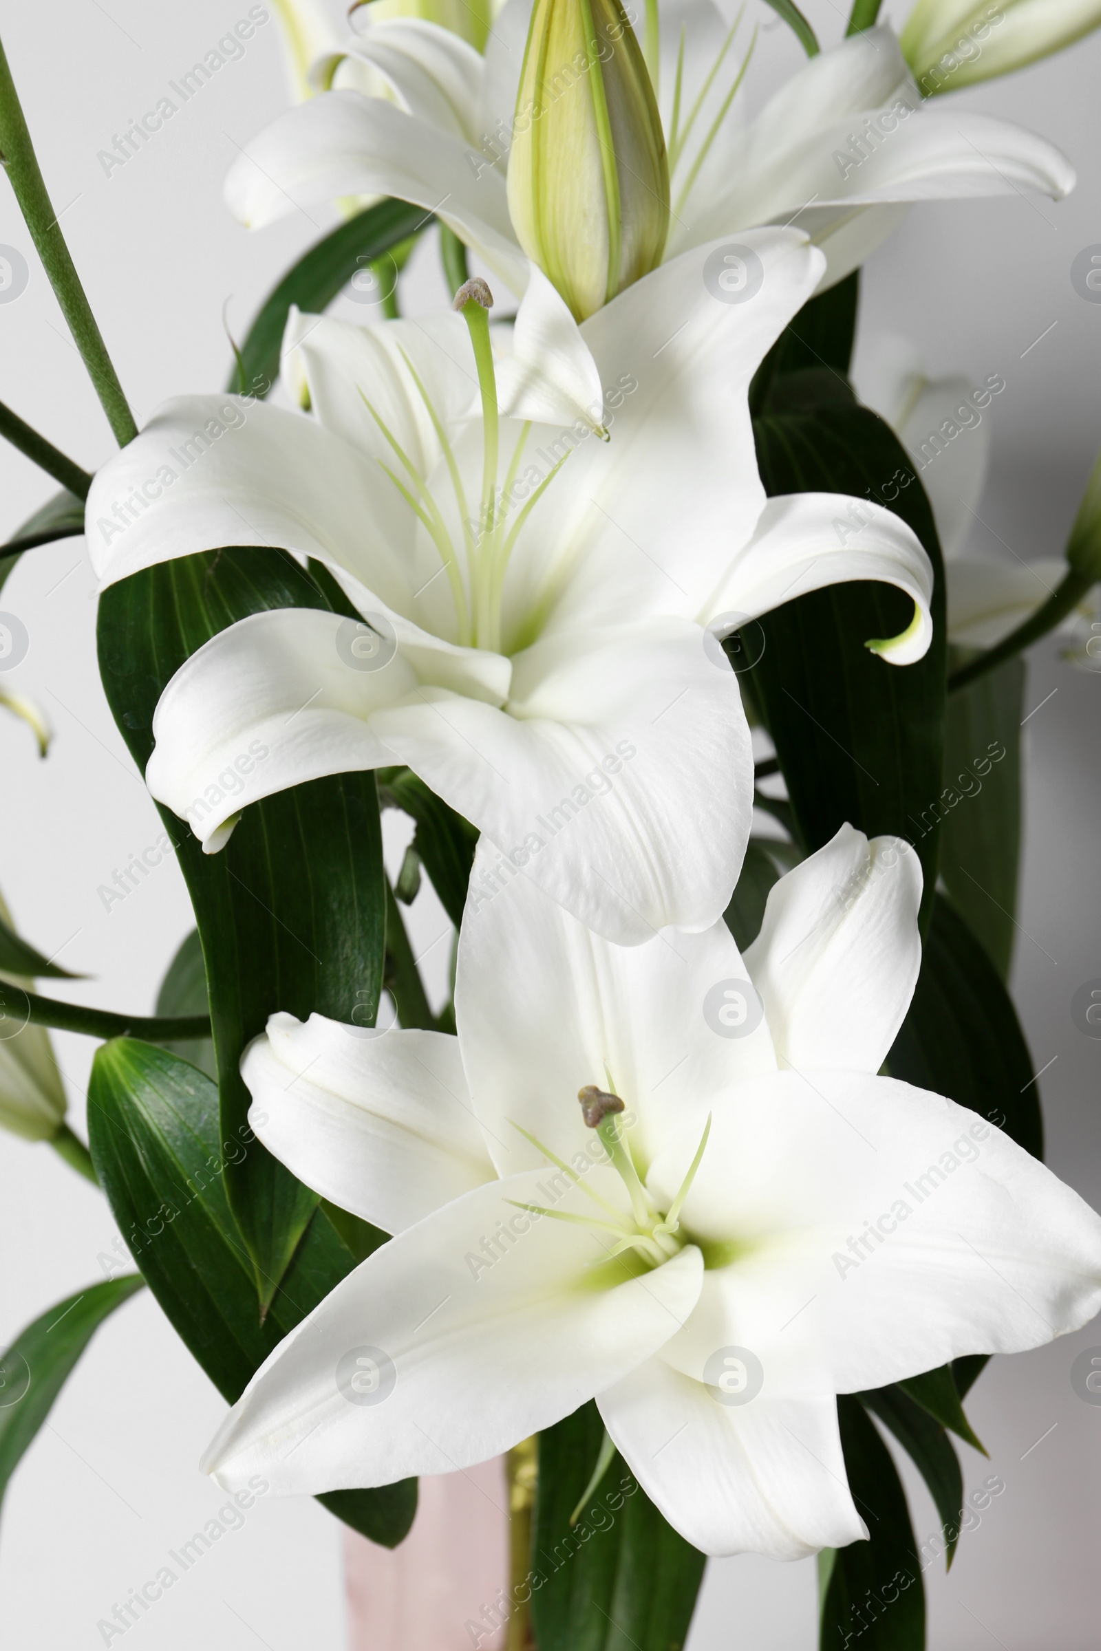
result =
[[[484,56],[414,20],[352,40],[347,68],[328,64],[337,89],[281,116],[234,162],[231,211],[259,228],[338,195],[395,195],[436,211],[522,294],[528,261],[505,173],[513,119],[532,119],[517,111],[528,8],[528,0],[505,7]],[[758,225],[796,225],[827,253],[830,286],[913,201],[1020,190],[1058,200],[1073,187],[1070,162],[1023,127],[924,107],[888,26],[809,59],[746,124],[738,89],[751,43],[735,48],[736,25],[728,28],[710,0],[662,0],[659,10],[672,198],[665,258]],[[399,107],[340,89],[342,76],[365,63]],[[753,277],[721,256],[715,279]]]

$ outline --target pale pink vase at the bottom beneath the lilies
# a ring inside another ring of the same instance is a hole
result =
[[[343,1560],[348,1651],[503,1651],[505,1458],[421,1479],[401,1547],[345,1530]]]

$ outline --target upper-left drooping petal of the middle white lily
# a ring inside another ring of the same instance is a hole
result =
[[[413,599],[414,522],[393,484],[317,419],[248,396],[168,401],[97,471],[84,523],[104,584],[198,550],[269,545],[348,568],[398,613]]]

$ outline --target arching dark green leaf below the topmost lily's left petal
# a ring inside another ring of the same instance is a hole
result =
[[[390,253],[432,215],[408,201],[378,201],[312,246],[269,292],[241,347],[241,358],[229,378],[229,390],[246,388],[266,396],[279,378],[279,350],[291,305],[320,314],[365,263]],[[244,385],[241,385],[244,381]]]

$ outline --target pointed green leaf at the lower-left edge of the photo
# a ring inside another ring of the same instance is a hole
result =
[[[130,1275],[66,1296],[20,1331],[0,1359],[0,1499],[89,1341],[142,1284]]]

